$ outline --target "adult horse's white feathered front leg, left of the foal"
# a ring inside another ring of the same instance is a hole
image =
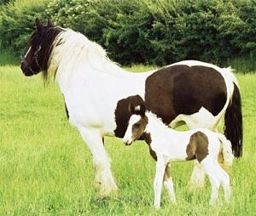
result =
[[[103,146],[102,135],[99,130],[94,128],[79,128],[79,132],[93,157],[93,165],[96,169],[96,187],[102,196],[108,196],[118,187],[111,173],[110,158]]]

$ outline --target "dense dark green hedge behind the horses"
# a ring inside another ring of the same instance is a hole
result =
[[[1,7],[1,48],[17,54],[39,17],[82,32],[126,65],[256,55],[255,0],[16,0]]]

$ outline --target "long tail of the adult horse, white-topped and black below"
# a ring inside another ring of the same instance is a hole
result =
[[[242,154],[242,116],[241,116],[241,95],[236,77],[227,68],[224,72],[228,77],[227,87],[230,91],[230,101],[224,115],[224,135],[230,139],[232,151],[236,157]]]

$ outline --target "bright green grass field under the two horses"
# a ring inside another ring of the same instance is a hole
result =
[[[133,68],[136,71],[145,67]],[[177,206],[162,193],[154,210],[154,161],[148,147],[107,138],[119,192],[101,198],[94,189],[90,151],[67,122],[55,82],[24,77],[0,66],[0,215],[256,215],[256,75],[237,75],[244,117],[244,151],[230,173],[230,205],[210,207],[210,185],[190,191],[193,163],[172,165]],[[223,191],[220,191],[223,201]]]

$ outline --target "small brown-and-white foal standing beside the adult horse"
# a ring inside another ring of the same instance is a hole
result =
[[[210,204],[218,199],[218,188],[224,188],[226,202],[230,200],[230,177],[218,164],[218,156],[223,156],[224,166],[230,167],[233,162],[231,144],[223,134],[208,129],[193,129],[178,132],[168,128],[160,118],[146,111],[144,105],[130,105],[131,118],[125,132],[124,142],[131,145],[143,136],[150,154],[156,161],[154,177],[154,207],[160,207],[162,183],[166,187],[172,203],[176,203],[171,169],[169,162],[190,161],[196,159],[201,163],[212,185]]]

